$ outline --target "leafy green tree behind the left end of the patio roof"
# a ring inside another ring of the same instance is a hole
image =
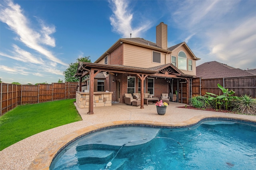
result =
[[[74,75],[76,74],[77,68],[78,68],[78,62],[83,61],[83,62],[88,62],[92,63],[91,59],[89,59],[90,56],[88,57],[81,57],[76,59],[76,63],[70,63],[69,67],[66,69],[66,71],[63,72],[63,75],[65,77],[66,82],[78,82],[79,78],[76,78]]]

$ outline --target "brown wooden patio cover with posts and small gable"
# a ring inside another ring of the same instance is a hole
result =
[[[94,93],[94,78],[99,72],[115,72],[125,74],[136,74],[141,82],[148,76],[162,77],[162,78],[182,78],[187,82],[187,96],[189,96],[189,83],[193,76],[183,74],[178,68],[172,64],[164,64],[158,67],[152,68],[138,68],[124,65],[110,65],[110,64],[98,64],[98,63],[87,63],[79,62],[78,70],[75,74],[79,77],[79,91],[82,91],[82,78],[86,75],[90,77],[90,88],[89,88],[89,111],[88,114],[94,114],[93,112],[93,93]],[[144,83],[141,83],[141,89],[144,89]],[[144,90],[140,91],[141,103],[140,108],[144,109]]]

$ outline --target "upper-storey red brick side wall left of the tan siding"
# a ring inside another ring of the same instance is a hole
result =
[[[124,45],[120,45],[117,49],[115,49],[112,53],[110,53],[110,63],[109,64],[124,64],[124,53],[123,53]]]

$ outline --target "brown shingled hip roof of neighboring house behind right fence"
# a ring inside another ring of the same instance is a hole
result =
[[[196,76],[202,79],[208,78],[228,78],[228,77],[245,77],[255,76],[254,74],[234,68],[227,64],[222,64],[217,61],[206,62],[196,67]]]

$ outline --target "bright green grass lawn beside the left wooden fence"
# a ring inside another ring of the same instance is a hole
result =
[[[0,150],[36,133],[82,120],[75,99],[20,105],[0,117]]]

